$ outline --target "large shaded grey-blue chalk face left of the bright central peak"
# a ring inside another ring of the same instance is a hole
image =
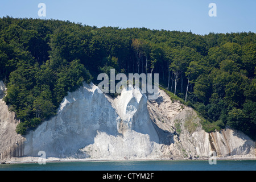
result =
[[[26,135],[24,155],[37,156],[45,151],[47,156],[79,157],[79,148],[94,143],[98,133],[117,135],[119,120],[101,90],[85,84],[63,99],[55,117]]]

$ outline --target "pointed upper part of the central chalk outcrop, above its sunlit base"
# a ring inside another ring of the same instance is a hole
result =
[[[139,88],[129,85],[127,89],[123,89],[121,96],[114,100],[114,107],[121,118],[119,132],[125,135],[123,130],[134,130],[137,133],[148,134],[152,141],[159,143],[158,134],[147,110],[147,97]]]

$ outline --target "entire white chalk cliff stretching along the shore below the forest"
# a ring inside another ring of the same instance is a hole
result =
[[[2,98],[0,119],[2,159],[38,156],[39,151],[69,159],[197,158],[212,150],[220,157],[255,158],[255,143],[245,134],[231,129],[205,133],[195,111],[162,90],[149,101],[129,86],[113,99],[84,83],[68,93],[57,115],[23,137],[14,132],[19,121]]]

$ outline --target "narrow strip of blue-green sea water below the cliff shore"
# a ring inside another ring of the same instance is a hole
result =
[[[0,171],[256,171],[256,160],[147,160],[0,164]]]

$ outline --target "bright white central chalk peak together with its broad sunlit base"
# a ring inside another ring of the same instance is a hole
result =
[[[159,136],[147,110],[147,97],[138,88],[123,89],[121,96],[110,100],[116,113],[116,135],[98,132],[94,143],[82,148],[92,158],[157,158]]]

